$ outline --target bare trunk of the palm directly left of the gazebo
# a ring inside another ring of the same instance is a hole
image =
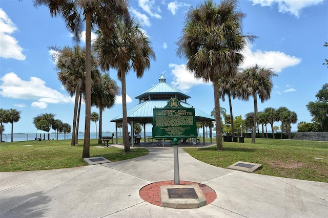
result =
[[[122,83],[122,129],[123,129],[123,145],[124,151],[130,152],[129,131],[128,131],[128,115],[127,115],[127,96],[126,96],[126,80],[124,68],[120,69],[121,83]],[[133,133],[131,133],[132,136]]]

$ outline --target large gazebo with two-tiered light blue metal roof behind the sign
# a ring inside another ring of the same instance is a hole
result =
[[[131,124],[131,133],[133,133],[133,125],[134,123],[139,123],[140,125],[144,125],[144,129],[146,130],[146,124],[153,123],[153,108],[160,108],[167,105],[170,98],[177,98],[180,101],[180,104],[184,107],[193,107],[189,103],[187,103],[187,99],[191,98],[190,96],[183,94],[173,88],[171,85],[166,83],[166,78],[161,75],[158,79],[158,84],[150,88],[144,93],[141,93],[136,99],[139,100],[139,103],[133,107],[131,107],[127,111],[128,122]],[[195,107],[194,107],[195,108]],[[210,115],[198,110],[195,108],[195,117],[196,122],[202,122],[203,124],[203,136],[205,136],[205,122],[214,121],[215,119]],[[117,143],[117,123],[122,122],[123,116],[119,115],[111,120],[111,122],[115,122],[116,126],[116,143]],[[131,134],[133,137],[133,134]],[[212,142],[212,128],[210,128],[210,137]],[[144,133],[144,139],[146,142],[146,131]],[[132,147],[134,146],[134,140],[132,138]],[[203,144],[205,144],[205,138],[203,138]]]

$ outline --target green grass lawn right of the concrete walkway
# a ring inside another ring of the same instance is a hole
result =
[[[328,182],[328,142],[256,139],[252,144],[250,138],[244,141],[223,142],[223,151],[217,151],[216,146],[183,149],[192,157],[217,167],[226,168],[237,161],[245,161],[263,165],[255,173]]]

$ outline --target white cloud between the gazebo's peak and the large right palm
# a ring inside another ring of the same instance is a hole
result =
[[[189,92],[194,85],[210,84],[204,83],[202,79],[196,79],[194,74],[186,69],[185,64],[178,65],[175,63],[170,63],[169,68],[173,68],[172,74],[175,76],[172,85],[182,92]]]

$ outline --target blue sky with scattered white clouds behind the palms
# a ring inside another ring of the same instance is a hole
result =
[[[140,20],[151,38],[156,61],[152,60],[150,70],[141,79],[134,72],[127,75],[128,108],[138,103],[135,96],[157,84],[163,74],[168,84],[191,96],[188,103],[211,113],[213,86],[194,79],[185,69],[186,60],[176,55],[185,14],[200,3],[198,0],[130,0],[130,13]],[[273,79],[271,99],[258,103],[258,111],[285,106],[297,113],[298,122],[311,122],[305,105],[316,100],[315,94],[328,82],[328,69],[322,64],[328,57],[328,48],[323,47],[328,41],[328,1],[241,0],[239,9],[247,15],[243,32],[259,37],[245,48],[241,67],[257,63],[278,74]],[[80,45],[85,44],[84,38],[81,36]],[[69,96],[57,79],[50,46],[73,46],[72,35],[60,17],[51,17],[46,7],[33,7],[31,0],[0,1],[0,107],[21,112],[20,120],[14,123],[14,133],[34,130],[33,117],[44,113],[52,113],[55,119],[72,125],[74,97]],[[109,73],[121,86],[116,70]],[[228,112],[228,100],[220,103]],[[254,111],[252,100],[235,99],[232,106],[234,116],[244,118]],[[98,113],[97,108],[91,111]],[[83,105],[80,131],[84,130],[84,113]],[[103,113],[104,132],[115,130],[115,124],[109,120],[121,113],[118,96],[116,104]],[[292,125],[292,131],[297,130],[296,126]],[[5,134],[10,133],[11,125],[5,124],[5,129]],[[151,125],[146,130],[151,130]],[[94,123],[91,132],[95,132]]]

